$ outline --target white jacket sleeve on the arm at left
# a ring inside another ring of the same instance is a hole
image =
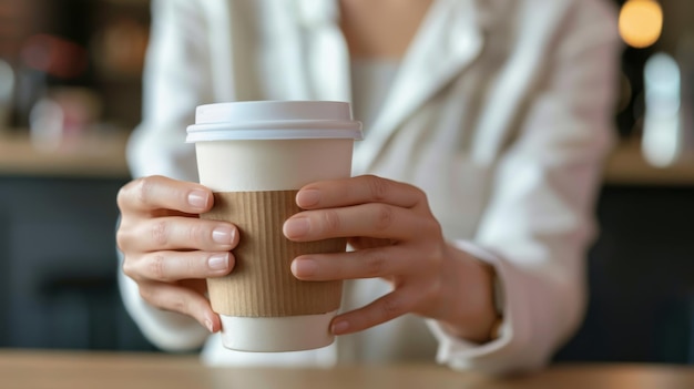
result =
[[[133,132],[127,162],[134,177],[165,175],[197,181],[194,147],[185,143],[195,106],[208,101],[207,41],[195,1],[155,0],[144,70],[143,120]],[[194,319],[147,305],[137,285],[119,274],[123,303],[144,336],[164,350],[203,346],[210,332]]]

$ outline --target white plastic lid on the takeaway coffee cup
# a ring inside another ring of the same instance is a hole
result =
[[[363,137],[349,103],[245,101],[197,106],[186,142]]]

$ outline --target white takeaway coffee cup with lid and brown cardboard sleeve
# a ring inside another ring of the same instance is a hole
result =
[[[349,177],[361,123],[348,103],[255,101],[201,105],[186,142],[195,143],[201,184],[214,192],[204,218],[241,233],[236,265],[207,279],[222,341],[243,351],[328,346],[341,281],[300,281],[290,270],[302,254],[344,252],[346,240],[294,243],[283,224],[302,209],[297,191],[312,182]]]

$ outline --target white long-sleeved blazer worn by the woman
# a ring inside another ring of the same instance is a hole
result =
[[[127,155],[133,175],[197,180],[184,139],[198,104],[350,101],[338,11],[337,0],[154,1],[144,116]],[[601,0],[437,0],[355,151],[355,175],[421,187],[447,238],[496,267],[499,339],[473,345],[410,315],[320,350],[248,355],[147,306],[122,277],[127,309],[163,349],[207,340],[212,365],[436,358],[491,373],[544,366],[584,310],[594,199],[614,134],[615,22]],[[345,309],[387,291],[380,280],[349,283]]]

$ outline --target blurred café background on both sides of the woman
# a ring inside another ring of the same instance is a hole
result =
[[[606,0],[619,144],[590,307],[557,360],[694,364],[694,2]],[[115,275],[147,0],[0,0],[0,347],[154,350]]]

